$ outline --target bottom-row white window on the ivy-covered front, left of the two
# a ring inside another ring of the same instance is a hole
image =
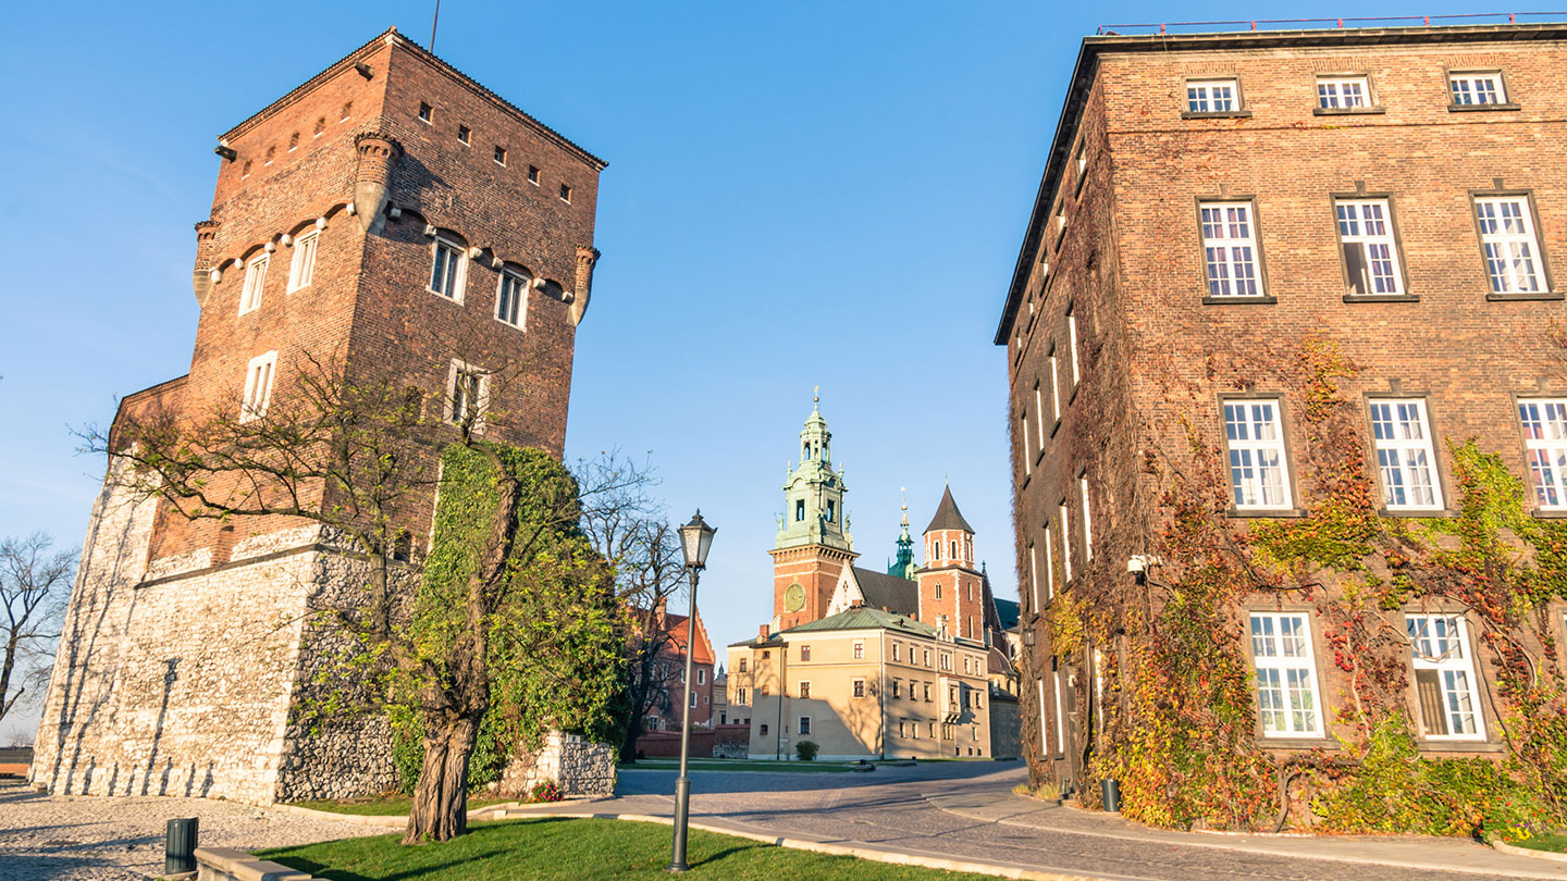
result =
[[[1247,618],[1257,680],[1257,721],[1263,737],[1323,737],[1324,707],[1310,615],[1254,611]],[[1287,627],[1290,635],[1285,633]],[[1269,693],[1266,704],[1265,690]],[[1301,702],[1301,698],[1307,701]]]

